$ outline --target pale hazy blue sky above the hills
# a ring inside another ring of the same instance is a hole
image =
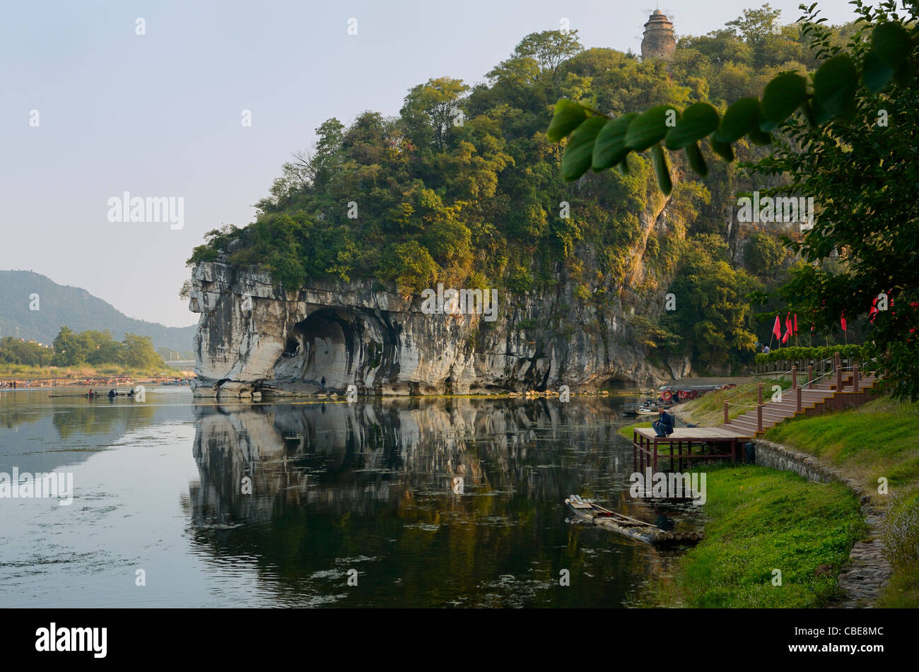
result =
[[[751,0],[665,0],[699,35]],[[799,0],[773,0],[782,20]],[[831,23],[846,0],[821,2]],[[81,286],[132,318],[197,321],[177,297],[204,232],[243,226],[324,119],[398,114],[415,84],[484,79],[567,17],[585,47],[640,51],[654,0],[7,3],[0,21],[0,269]],[[137,19],[145,34],[137,34]],[[357,35],[348,20],[357,19]],[[252,125],[241,123],[251,110]],[[39,125],[34,123],[38,111]],[[112,223],[108,199],[184,198],[184,226]],[[24,299],[25,300],[25,299]]]

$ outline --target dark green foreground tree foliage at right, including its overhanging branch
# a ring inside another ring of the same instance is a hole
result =
[[[728,162],[734,159],[732,144],[743,137],[755,144],[777,142],[775,151],[755,165],[754,174],[790,175],[788,185],[773,191],[812,196],[819,207],[813,228],[800,241],[788,241],[806,263],[797,267],[781,296],[822,330],[833,329],[844,315],[851,321],[866,314],[881,297],[892,301],[891,308],[872,314],[866,356],[875,360],[894,394],[915,400],[919,9],[914,2],[898,9],[893,0],[874,7],[855,0],[853,5],[859,18],[845,43],[823,26],[816,3],[801,6],[805,16],[799,20],[800,33],[811,40],[820,61],[810,79],[798,72],[780,73],[765,85],[761,97],[743,97],[723,114],[713,106],[682,111],[664,106],[677,119],[670,127],[661,107],[652,107],[621,122],[621,150],[600,142],[621,118],[601,118],[589,106],[562,99],[549,135],[561,140],[573,134],[565,150],[566,157],[571,153],[569,178],[591,166],[602,169],[614,151],[619,151],[613,158],[621,166],[631,151],[655,145],[658,184],[664,192],[670,182],[665,166],[662,170],[662,144],[686,151],[692,168],[704,174],[700,141],[707,140],[710,151]],[[745,15],[734,28],[754,36],[763,18]]]

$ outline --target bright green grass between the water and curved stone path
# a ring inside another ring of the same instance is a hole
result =
[[[679,559],[674,578],[655,584],[654,605],[809,608],[837,594],[840,568],[866,532],[845,486],[753,465],[707,474],[706,538]]]

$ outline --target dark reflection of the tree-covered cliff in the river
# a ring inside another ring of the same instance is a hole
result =
[[[573,492],[625,506],[631,449],[601,398],[196,415],[194,543],[255,557],[283,603],[617,606],[661,569],[648,547],[564,522]]]

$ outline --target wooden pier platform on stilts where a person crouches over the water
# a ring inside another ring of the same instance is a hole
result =
[[[677,468],[686,460],[691,465],[698,459],[731,459],[736,461],[743,442],[753,441],[752,432],[727,430],[722,427],[677,427],[670,436],[655,436],[650,427],[639,427],[632,433],[632,456],[639,469],[650,465],[657,471],[660,460],[670,460]]]

